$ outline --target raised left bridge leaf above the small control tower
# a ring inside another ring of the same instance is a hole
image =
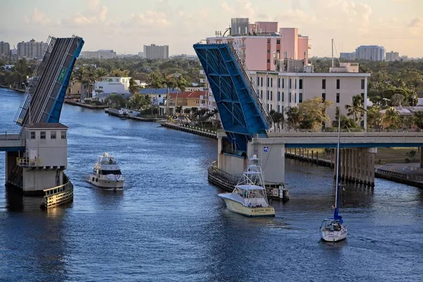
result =
[[[58,123],[69,78],[84,40],[49,37],[44,58],[38,63],[20,104],[15,122]]]

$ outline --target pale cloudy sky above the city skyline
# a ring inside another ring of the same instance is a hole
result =
[[[169,45],[169,54],[195,54],[192,44],[225,31],[231,18],[298,27],[312,56],[381,45],[400,56],[423,56],[423,0],[0,0],[0,41],[85,40],[82,51],[137,54],[143,45]]]

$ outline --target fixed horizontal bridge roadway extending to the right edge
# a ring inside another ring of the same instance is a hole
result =
[[[338,132],[333,130],[268,130],[267,135],[267,144],[285,144],[288,148],[336,147],[338,143]],[[423,130],[342,130],[340,136],[341,148],[423,147]]]

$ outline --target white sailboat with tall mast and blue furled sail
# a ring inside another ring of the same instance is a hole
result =
[[[339,176],[339,143],[341,140],[341,111],[338,109],[338,145],[336,152],[336,192],[335,192],[335,211],[333,218],[324,219],[321,222],[321,239],[326,242],[338,242],[347,238],[347,226],[343,224],[343,218],[339,214],[339,190],[341,177]]]

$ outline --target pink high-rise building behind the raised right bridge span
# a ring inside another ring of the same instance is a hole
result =
[[[274,25],[276,23],[276,25]],[[256,22],[260,26],[277,30],[277,22]],[[280,28],[277,35],[240,35],[228,37],[209,37],[207,43],[233,42],[238,56],[249,71],[275,71],[274,58],[304,59],[308,63],[308,37],[298,35],[297,28]]]

